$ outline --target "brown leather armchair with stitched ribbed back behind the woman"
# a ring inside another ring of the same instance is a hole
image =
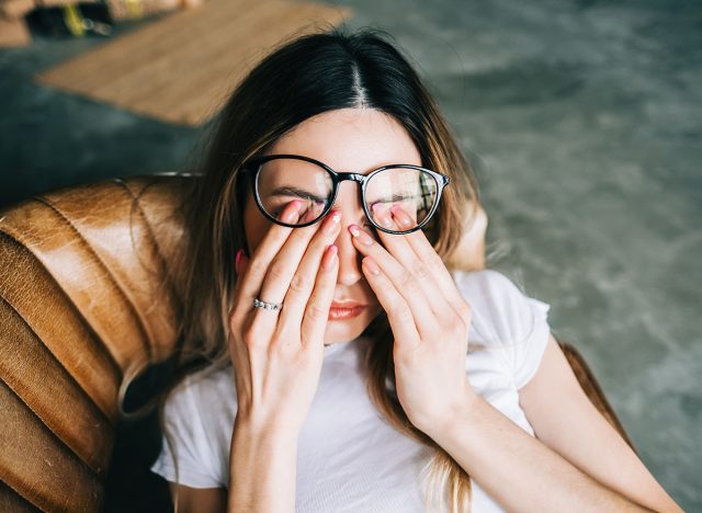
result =
[[[98,511],[127,386],[176,343],[170,255],[189,174],[115,179],[0,212],[0,511]],[[483,263],[485,218],[466,233]],[[477,231],[476,231],[477,230]],[[595,406],[630,443],[577,351]]]

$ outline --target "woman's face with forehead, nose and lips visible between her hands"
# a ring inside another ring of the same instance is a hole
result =
[[[405,128],[387,114],[370,109],[341,109],[306,119],[281,137],[269,153],[312,157],[335,171],[362,174],[392,163],[421,166],[419,151]],[[356,224],[374,232],[363,213],[360,191],[355,182],[341,182],[333,206],[341,214],[341,231],[335,242],[339,248],[339,275],[333,298],[339,303],[359,303],[365,308],[352,318],[332,319],[330,314],[325,344],[354,340],[381,311],[361,271],[362,255],[353,247],[348,230],[349,225]],[[253,254],[272,223],[261,214],[250,190],[244,224],[249,254]]]

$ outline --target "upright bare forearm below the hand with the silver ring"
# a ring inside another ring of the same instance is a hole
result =
[[[227,511],[294,512],[297,437],[235,422]]]

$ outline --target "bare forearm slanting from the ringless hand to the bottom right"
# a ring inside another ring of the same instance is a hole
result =
[[[649,511],[580,471],[480,396],[429,434],[509,511]]]

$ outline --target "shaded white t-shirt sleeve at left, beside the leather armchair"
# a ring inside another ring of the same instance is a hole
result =
[[[151,465],[151,471],[171,482],[191,488],[220,488],[210,456],[205,429],[185,377],[166,399],[163,425],[176,454],[168,445],[166,434],[161,438],[161,452]],[[176,468],[178,467],[178,476]]]

